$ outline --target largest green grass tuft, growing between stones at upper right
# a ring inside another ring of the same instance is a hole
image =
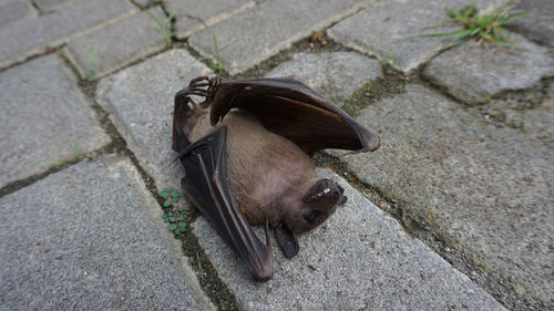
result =
[[[461,24],[464,29],[414,37],[456,35],[444,49],[450,49],[474,37],[479,39],[479,43],[484,42],[486,44],[488,42],[494,42],[504,46],[516,48],[510,43],[510,32],[504,27],[517,19],[526,17],[527,11],[514,10],[513,7],[514,6],[511,3],[505,3],[493,8],[489,13],[480,12],[475,4],[464,7],[458,11],[444,8],[444,11],[447,11],[450,17],[450,20],[448,20],[445,24]],[[445,24],[441,23],[439,25]]]

